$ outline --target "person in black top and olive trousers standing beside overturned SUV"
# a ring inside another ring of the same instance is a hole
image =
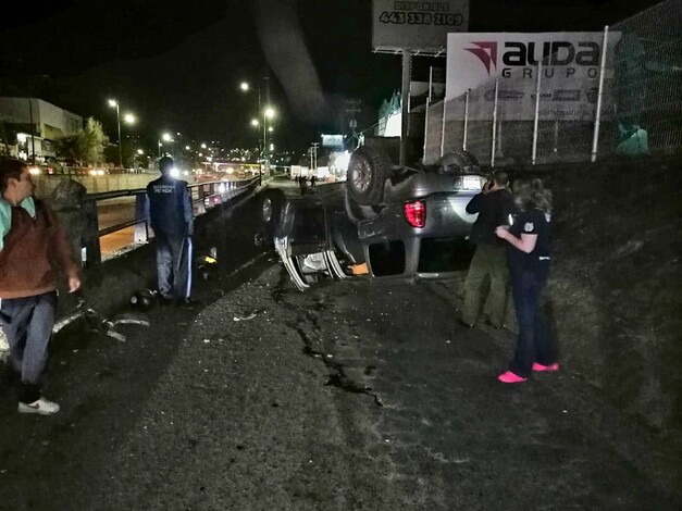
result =
[[[509,297],[509,272],[506,244],[495,236],[498,225],[508,223],[513,210],[509,176],[495,171],[481,194],[467,204],[467,213],[479,214],[471,227],[470,241],[475,251],[464,282],[464,308],[459,323],[473,328],[483,306],[488,301],[488,324],[500,328],[505,321]]]

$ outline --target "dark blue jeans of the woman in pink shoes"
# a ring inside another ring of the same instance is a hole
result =
[[[549,339],[547,322],[541,307],[541,297],[548,273],[549,265],[531,271],[510,269],[519,337],[509,371],[524,378],[533,372],[533,362],[549,365],[557,361],[556,350]]]

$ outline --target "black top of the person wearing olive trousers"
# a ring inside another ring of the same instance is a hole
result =
[[[513,199],[507,188],[474,196],[467,204],[467,213],[479,213],[471,227],[471,242],[504,247],[506,242],[495,235],[495,227],[509,225],[509,215],[512,212]]]

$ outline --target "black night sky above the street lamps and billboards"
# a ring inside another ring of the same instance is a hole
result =
[[[382,100],[400,87],[401,64],[398,55],[372,52],[371,0],[259,1],[294,10],[317,78],[292,73],[296,82],[283,84],[272,71],[288,66],[271,65],[264,55],[256,0],[53,0],[3,16],[0,95],[39,97],[95,116],[115,138],[115,114],[107,105],[114,97],[122,113],[139,117],[131,129],[150,147],[164,130],[224,146],[253,145],[249,121],[258,101],[239,91],[244,79],[260,86],[263,102],[270,89],[280,147],[299,149],[321,133],[338,133],[346,99],[362,101],[360,127],[375,122]],[[656,3],[472,0],[469,32],[598,30]],[[276,37],[290,30],[273,17],[263,32]],[[426,80],[432,64],[445,66],[445,59],[413,59],[413,79]],[[311,108],[315,79],[331,105],[325,113]]]

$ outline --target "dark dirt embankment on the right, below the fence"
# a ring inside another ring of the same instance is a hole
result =
[[[551,324],[562,362],[664,435],[682,431],[679,161],[556,170]]]

